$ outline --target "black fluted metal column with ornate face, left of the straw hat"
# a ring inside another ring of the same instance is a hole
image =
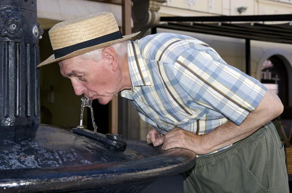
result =
[[[0,126],[38,126],[37,0],[0,1]]]

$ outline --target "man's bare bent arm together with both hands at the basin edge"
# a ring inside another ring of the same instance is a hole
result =
[[[273,120],[283,112],[283,105],[279,97],[271,90],[267,90],[256,109],[249,113],[245,120],[237,125],[228,120],[205,135],[196,135],[175,127],[171,131],[157,138],[153,129],[147,135],[147,141],[154,145],[163,143],[162,149],[167,150],[180,147],[192,150],[197,155],[205,155],[227,145],[233,144],[254,133],[262,125]],[[151,132],[154,132],[151,134]]]

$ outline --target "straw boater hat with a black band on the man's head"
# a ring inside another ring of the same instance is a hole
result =
[[[37,67],[107,47],[139,33],[122,36],[113,14],[109,12],[63,21],[49,31],[54,54]]]

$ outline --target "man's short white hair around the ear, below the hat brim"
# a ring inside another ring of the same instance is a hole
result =
[[[119,43],[110,45],[110,47],[112,47],[115,50],[115,52],[117,53],[118,57],[121,58],[127,54],[128,41],[119,42]],[[100,61],[102,59],[103,49],[104,48],[100,48],[100,49],[93,50],[93,51],[88,52],[88,53],[83,53],[80,56],[84,60],[92,59],[94,61]]]

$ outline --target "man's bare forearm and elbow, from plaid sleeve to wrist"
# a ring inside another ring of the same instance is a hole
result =
[[[201,148],[208,153],[242,140],[254,133],[262,125],[279,116],[283,105],[271,91],[267,91],[260,104],[246,119],[237,125],[231,121],[220,125],[210,133],[201,136]]]

